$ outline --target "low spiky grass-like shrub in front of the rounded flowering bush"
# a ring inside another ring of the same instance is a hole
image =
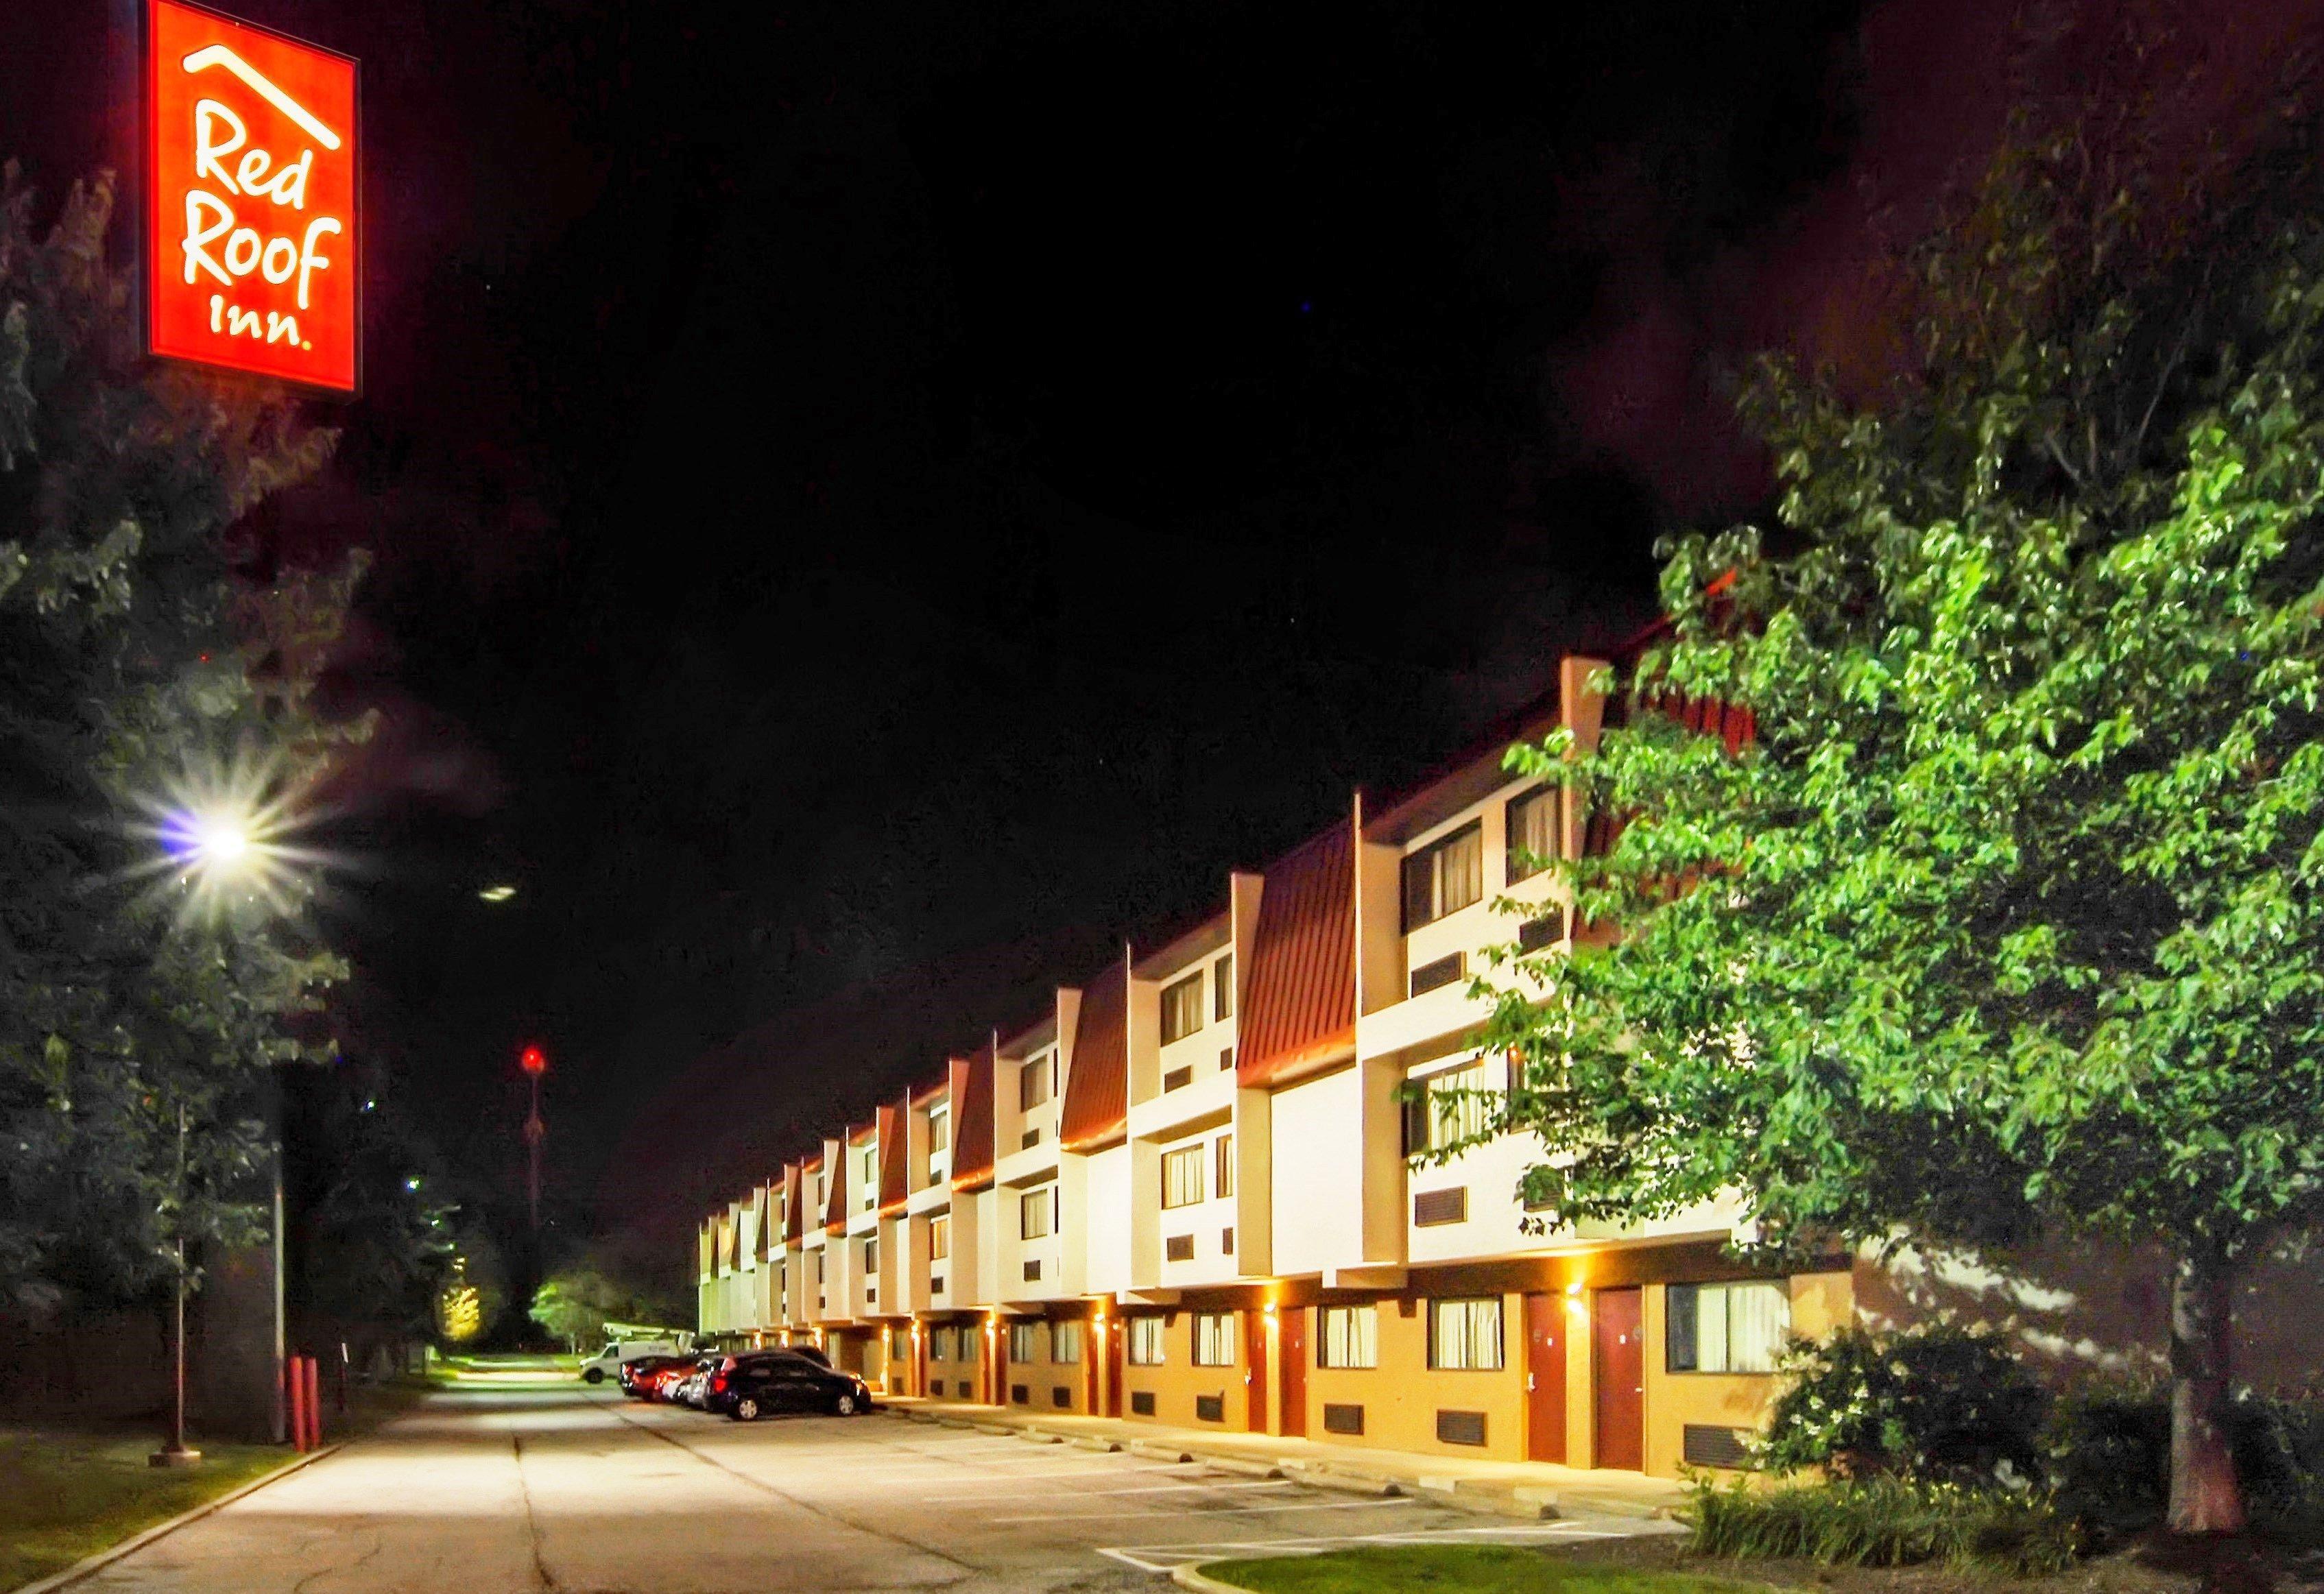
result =
[[[1776,1489],[1697,1482],[1687,1501],[1694,1548],[1724,1557],[1799,1557],[1827,1566],[1917,1561],[2064,1571],[2080,1531],[2047,1494],[1920,1478],[1792,1482]]]

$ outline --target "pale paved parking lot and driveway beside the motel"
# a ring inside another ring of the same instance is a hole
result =
[[[871,1417],[753,1424],[607,1392],[449,1392],[88,1587],[551,1594],[1167,1587],[1178,1561],[1659,1531],[1515,1522]]]

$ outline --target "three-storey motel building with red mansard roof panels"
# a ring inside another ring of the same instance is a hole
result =
[[[930,1401],[1671,1478],[1741,1462],[1787,1334],[1989,1304],[1959,1269],[1755,1273],[1729,1255],[1743,1201],[1548,1229],[1518,1194],[1529,1136],[1415,1166],[1476,1122],[1457,1092],[1506,1085],[1473,1039],[1485,948],[1571,948],[1525,857],[1597,837],[1501,753],[1557,725],[1592,744],[1601,667],[1564,660],[1508,737],[1357,795],[1202,925],[713,1213],[702,1334],[813,1341]],[[2152,1320],[2140,1287],[2101,1280],[2082,1322]]]

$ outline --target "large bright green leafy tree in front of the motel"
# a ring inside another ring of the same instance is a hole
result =
[[[2233,1531],[2233,1287],[2324,1215],[2324,235],[2305,158],[2150,153],[2027,123],[1892,390],[1759,367],[1780,523],[1676,541],[1627,720],[1513,755],[1624,827],[1599,950],[1506,953],[1494,1127],[1569,1220],[2168,1245],[2171,1522]]]

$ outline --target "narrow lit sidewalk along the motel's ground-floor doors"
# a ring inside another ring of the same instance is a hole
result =
[[[1218,1434],[1118,1417],[1043,1415],[1009,1406],[927,1401],[913,1394],[881,1396],[881,1406],[909,1422],[1020,1434],[1092,1450],[1129,1450],[1171,1462],[1208,1462],[1227,1471],[1292,1478],[1325,1489],[1413,1494],[1504,1517],[1671,1517],[1685,1501],[1685,1485],[1671,1478],[1583,1471],[1548,1462],[1483,1462],[1411,1450],[1320,1445],[1311,1438],[1278,1438],[1276,1434]]]

